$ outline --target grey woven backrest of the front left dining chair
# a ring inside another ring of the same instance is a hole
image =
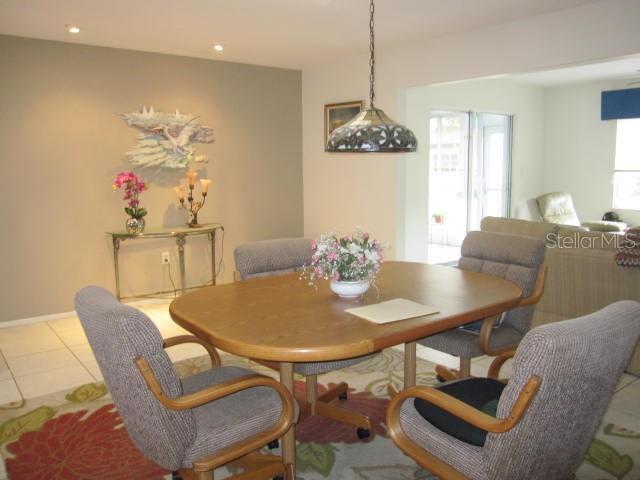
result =
[[[144,313],[121,304],[100,287],[80,290],[75,307],[129,436],[145,456],[177,470],[195,438],[193,412],[161,405],[134,364],[137,357],[144,357],[163,390],[171,397],[182,395],[162,335]]]

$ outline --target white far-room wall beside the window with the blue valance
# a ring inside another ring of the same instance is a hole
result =
[[[612,210],[616,122],[600,120],[600,93],[626,82],[598,81],[545,90],[544,192],[573,196],[582,221],[599,220]],[[618,211],[640,224],[640,212]]]

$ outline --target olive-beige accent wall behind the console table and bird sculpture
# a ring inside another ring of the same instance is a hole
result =
[[[153,105],[200,115],[216,142],[212,192],[200,214],[226,228],[221,280],[242,242],[303,233],[301,74],[298,71],[0,36],[0,321],[68,311],[84,285],[114,288],[111,245],[125,214],[114,175],[136,130],[116,114]],[[171,187],[183,172],[136,169],[152,188],[147,225],[174,226]],[[171,240],[125,242],[125,294],[169,288]],[[206,237],[187,242],[188,283],[205,281]]]

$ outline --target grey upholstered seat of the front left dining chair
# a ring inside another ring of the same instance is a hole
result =
[[[212,368],[182,379],[182,389],[189,394],[245,375],[255,372],[239,367]],[[242,390],[193,409],[196,435],[183,467],[189,468],[202,457],[266,430],[277,422],[281,412],[280,397],[269,387]]]

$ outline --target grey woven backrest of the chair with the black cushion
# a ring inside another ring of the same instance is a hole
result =
[[[487,478],[573,478],[639,336],[640,303],[629,300],[531,330],[516,352],[498,417],[507,417],[533,375],[542,383],[518,425],[487,435]]]

